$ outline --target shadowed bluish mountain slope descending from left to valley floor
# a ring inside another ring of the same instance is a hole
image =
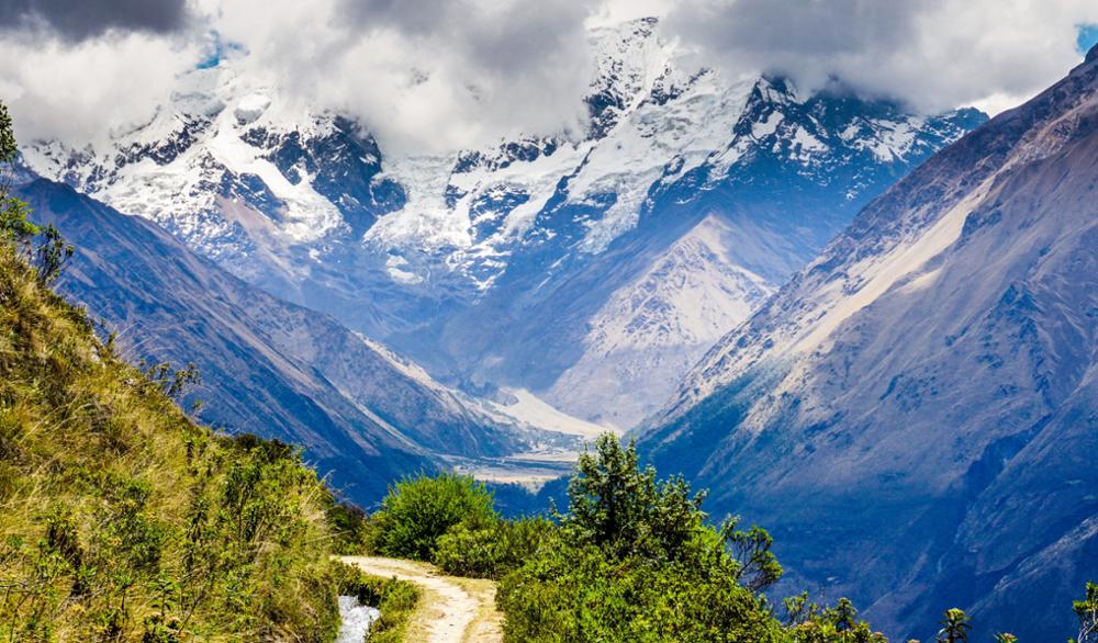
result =
[[[77,252],[58,284],[119,336],[128,359],[193,361],[203,420],[307,448],[368,505],[444,455],[497,456],[567,441],[453,392],[335,319],[195,256],[155,224],[25,177],[16,194]]]

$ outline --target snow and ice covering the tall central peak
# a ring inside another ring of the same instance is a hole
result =
[[[578,222],[578,248],[603,251],[637,224],[651,185],[673,179],[669,166],[687,171],[724,144],[751,87],[728,87],[704,70],[683,74],[679,54],[652,26],[637,21],[592,33],[601,74],[589,98],[590,138],[530,138],[457,159],[394,159],[386,176],[407,185],[412,199],[372,229],[368,241],[410,256],[451,248],[449,266],[484,289],[523,245],[558,235],[539,225],[557,198],[553,207],[601,211]]]

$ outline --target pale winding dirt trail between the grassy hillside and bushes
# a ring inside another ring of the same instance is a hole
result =
[[[344,556],[367,574],[396,577],[424,589],[410,623],[410,640],[425,643],[502,643],[503,617],[495,609],[495,583],[445,576],[433,565],[373,556]]]

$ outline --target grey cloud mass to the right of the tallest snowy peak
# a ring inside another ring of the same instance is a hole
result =
[[[663,27],[733,74],[994,112],[1078,64],[1078,29],[1095,22],[1094,0],[684,0]]]

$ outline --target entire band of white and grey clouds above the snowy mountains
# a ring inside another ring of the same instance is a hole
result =
[[[1077,64],[1094,0],[0,0],[0,100],[25,138],[149,119],[214,46],[390,149],[576,131],[593,24],[657,14],[731,76],[840,78],[923,111],[1019,102]]]

